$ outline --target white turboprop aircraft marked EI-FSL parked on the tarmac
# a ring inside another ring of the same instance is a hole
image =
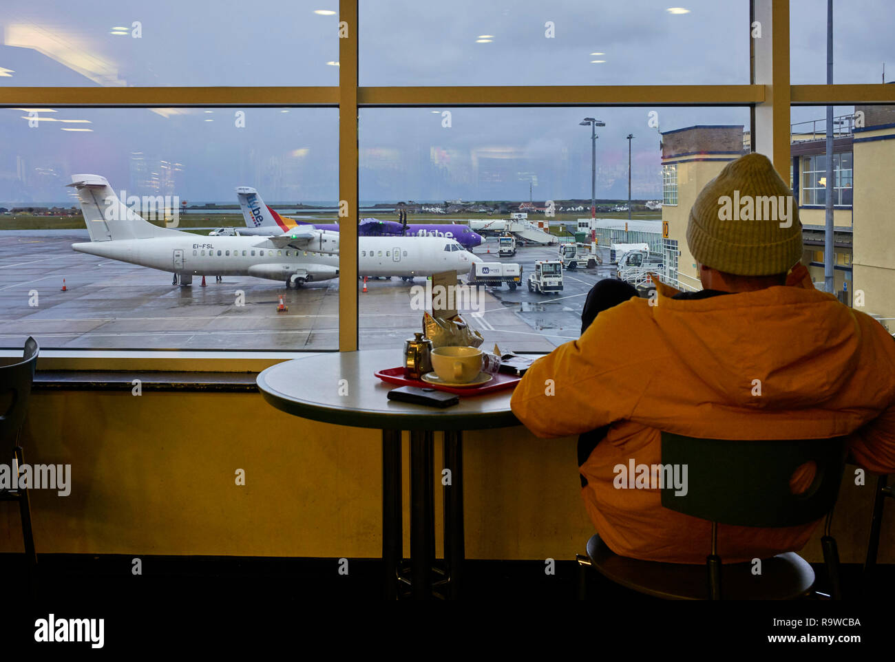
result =
[[[338,276],[338,233],[312,226],[268,237],[203,237],[158,227],[127,208],[107,179],[72,174],[90,242],[72,249],[174,274],[174,284],[192,276],[256,276],[286,287]],[[443,237],[361,237],[358,259],[368,276],[430,276],[481,262]]]

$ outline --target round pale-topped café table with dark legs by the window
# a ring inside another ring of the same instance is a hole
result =
[[[400,349],[328,352],[278,363],[257,379],[261,395],[284,412],[337,425],[382,430],[382,560],[385,593],[401,595],[410,586],[413,598],[430,598],[444,587],[446,598],[456,598],[465,556],[463,528],[463,430],[519,425],[510,410],[513,389],[489,395],[461,396],[445,409],[388,400],[395,386],[374,377],[377,370],[403,362]],[[402,573],[401,432],[410,433],[410,576]],[[432,580],[435,560],[432,442],[444,433],[444,468],[450,485],[444,487],[444,578]]]

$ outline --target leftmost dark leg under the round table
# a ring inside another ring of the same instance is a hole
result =
[[[404,556],[401,488],[401,431],[382,430],[382,562],[388,600],[397,598],[397,572]]]

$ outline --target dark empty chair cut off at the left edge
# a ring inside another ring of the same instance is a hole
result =
[[[18,471],[24,464],[19,436],[25,414],[28,412],[28,401],[31,395],[31,383],[38,362],[40,347],[34,338],[25,342],[23,360],[13,365],[0,367],[0,462],[5,458],[13,458],[13,471]],[[4,406],[3,406],[4,405]],[[31,506],[27,488],[0,489],[0,501],[17,501],[21,513],[21,535],[25,543],[25,561],[29,576],[33,578],[34,568],[38,564],[38,556],[34,551],[34,532],[31,529]]]

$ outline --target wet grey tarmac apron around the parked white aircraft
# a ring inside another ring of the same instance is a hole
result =
[[[86,231],[0,232],[0,346],[21,347],[28,335],[47,349],[338,346],[337,279],[286,290],[251,276],[224,276],[221,283],[209,277],[201,287],[197,277],[192,286],[180,287],[165,272],[72,250],[72,242],[82,241],[88,241]],[[489,261],[520,263],[523,277],[535,260],[557,254],[556,247],[524,247],[515,257],[498,259],[496,251],[494,239],[475,249]],[[503,352],[549,352],[578,337],[587,292],[609,272],[609,267],[566,272],[565,289],[558,294],[529,293],[525,286],[515,292],[487,288],[473,301],[473,310],[464,311],[465,318],[484,337],[484,348],[499,344]],[[422,288],[425,280],[414,284]],[[400,278],[368,282],[367,293],[359,294],[362,348],[400,346],[420,330],[422,310],[412,307],[411,287]],[[280,294],[286,312],[276,310]]]

